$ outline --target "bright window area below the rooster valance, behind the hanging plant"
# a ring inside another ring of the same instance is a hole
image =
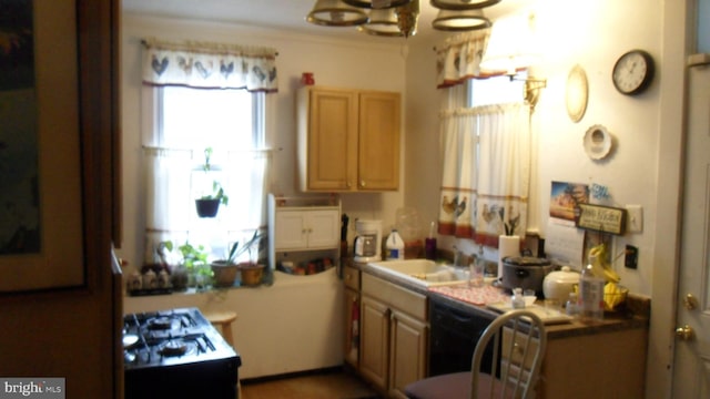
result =
[[[204,245],[212,257],[224,257],[232,243],[263,226],[265,94],[184,86],[145,91],[153,105],[153,129],[148,130],[152,134],[144,147],[146,249],[153,252],[158,243],[170,239],[174,245]],[[216,216],[199,217],[195,198],[213,193],[215,182],[227,203],[220,205]]]

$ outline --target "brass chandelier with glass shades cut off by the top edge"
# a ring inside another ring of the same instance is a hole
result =
[[[439,9],[432,27],[440,31],[489,28],[483,9],[500,0],[430,0]],[[317,0],[306,21],[325,27],[357,27],[381,37],[409,38],[417,32],[419,0]]]

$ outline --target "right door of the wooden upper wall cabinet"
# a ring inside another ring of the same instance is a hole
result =
[[[358,190],[399,187],[399,93],[359,95]]]

